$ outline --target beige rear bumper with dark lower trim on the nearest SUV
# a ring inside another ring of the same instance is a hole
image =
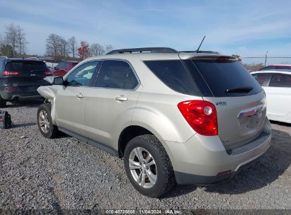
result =
[[[266,153],[271,127],[266,118],[263,132],[249,144],[227,152],[219,136],[195,134],[185,143],[166,141],[178,184],[205,185],[234,177]],[[221,173],[228,171],[225,175]],[[219,174],[220,173],[220,174]]]

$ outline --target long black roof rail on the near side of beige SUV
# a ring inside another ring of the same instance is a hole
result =
[[[178,51],[167,47],[145,47],[145,48],[112,50],[107,54],[132,54],[132,53],[178,53]]]

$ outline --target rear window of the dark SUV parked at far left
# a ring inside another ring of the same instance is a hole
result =
[[[22,73],[31,73],[31,71],[48,71],[44,62],[33,61],[13,61],[6,64],[7,71],[21,71]]]

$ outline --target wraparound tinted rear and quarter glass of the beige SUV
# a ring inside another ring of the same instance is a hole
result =
[[[230,97],[263,90],[239,62],[188,59],[145,61],[144,64],[166,86],[188,95]]]

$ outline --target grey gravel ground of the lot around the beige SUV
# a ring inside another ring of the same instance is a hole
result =
[[[161,199],[130,185],[122,160],[62,135],[38,131],[40,101],[8,105],[13,128],[0,129],[1,210],[291,209],[291,125],[275,124],[268,152],[233,180],[212,187],[176,186]],[[291,211],[287,211],[287,213]]]

